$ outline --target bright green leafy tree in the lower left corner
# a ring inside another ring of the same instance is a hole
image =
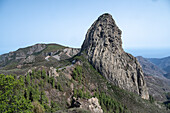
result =
[[[0,74],[0,112],[32,112],[32,104],[24,97],[23,78]]]

